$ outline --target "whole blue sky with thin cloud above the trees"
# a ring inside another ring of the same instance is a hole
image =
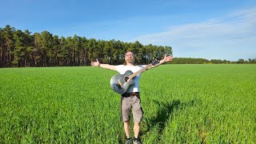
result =
[[[174,58],[256,58],[255,0],[0,0],[0,27],[172,46]]]

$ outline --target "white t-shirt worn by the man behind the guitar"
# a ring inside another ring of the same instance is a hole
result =
[[[120,74],[125,74],[127,70],[131,70],[133,73],[135,73],[138,70],[141,70],[143,67],[145,67],[145,66],[124,66],[124,65],[115,66],[116,70]],[[139,78],[141,78],[141,74],[138,74],[136,77],[133,78],[133,81],[135,82],[135,84],[131,85],[126,92],[128,92],[128,93],[140,92],[140,90],[139,90]]]

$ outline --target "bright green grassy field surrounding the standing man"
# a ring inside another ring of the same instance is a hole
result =
[[[0,143],[124,143],[114,74],[0,69]],[[256,65],[163,65],[140,86],[142,143],[256,143]]]

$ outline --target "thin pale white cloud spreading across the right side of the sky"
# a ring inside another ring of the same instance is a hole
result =
[[[256,58],[256,7],[134,39],[144,45],[172,46],[175,57]]]

